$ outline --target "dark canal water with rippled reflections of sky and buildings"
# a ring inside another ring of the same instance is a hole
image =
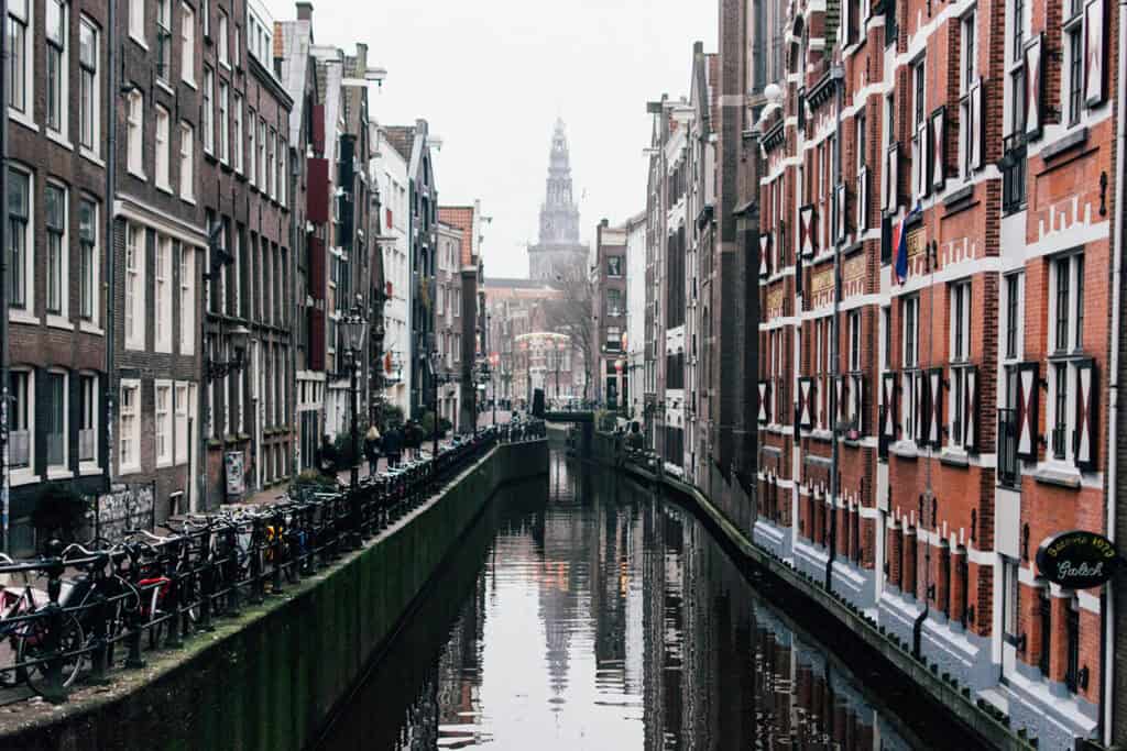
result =
[[[489,504],[320,748],[973,748],[764,589],[685,509],[553,453]]]

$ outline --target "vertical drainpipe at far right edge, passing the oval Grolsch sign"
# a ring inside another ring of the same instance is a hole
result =
[[[1116,538],[1116,492],[1117,462],[1116,449],[1118,448],[1118,421],[1119,421],[1119,327],[1122,323],[1119,297],[1119,286],[1122,284],[1122,257],[1124,257],[1124,196],[1127,196],[1125,187],[1124,149],[1127,147],[1127,27],[1124,27],[1124,19],[1127,18],[1127,0],[1119,0],[1119,17],[1117,26],[1119,28],[1119,60],[1116,77],[1116,181],[1112,186],[1116,202],[1116,217],[1112,222],[1115,227],[1113,250],[1111,254],[1111,351],[1108,365],[1108,519],[1107,535],[1115,542]],[[1121,581],[1121,578],[1120,578]],[[1101,640],[1101,651],[1103,659],[1103,685],[1100,687],[1100,704],[1102,714],[1100,724],[1102,725],[1102,737],[1104,745],[1110,745],[1115,732],[1113,719],[1115,708],[1111,700],[1115,696],[1115,650],[1112,645],[1116,637],[1115,619],[1115,587],[1104,587],[1103,597],[1100,602],[1100,615],[1103,617],[1103,638]]]

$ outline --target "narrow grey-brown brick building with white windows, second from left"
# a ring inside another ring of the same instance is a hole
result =
[[[121,54],[112,319],[116,395],[114,480],[151,486],[154,517],[214,506],[201,473],[202,206],[207,106],[203,41],[220,38],[219,14],[172,2],[126,3]],[[174,34],[174,29],[176,33]],[[230,43],[233,26],[224,29]],[[229,47],[229,54],[231,47]],[[117,71],[115,71],[117,72]],[[214,120],[211,120],[214,124]]]

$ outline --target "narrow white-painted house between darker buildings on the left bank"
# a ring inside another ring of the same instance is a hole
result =
[[[374,126],[372,147],[375,154],[371,171],[380,189],[380,234],[378,242],[383,250],[383,276],[389,287],[383,307],[383,378],[384,399],[397,405],[403,414],[410,413],[411,394],[411,322],[410,322],[410,259],[407,232],[410,223],[408,211],[407,157],[396,151]]]

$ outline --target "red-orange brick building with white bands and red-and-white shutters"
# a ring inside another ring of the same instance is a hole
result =
[[[755,540],[1041,748],[1100,722],[1099,592],[1033,557],[1106,527],[1111,14],[846,0],[749,25],[784,41],[746,69]]]

